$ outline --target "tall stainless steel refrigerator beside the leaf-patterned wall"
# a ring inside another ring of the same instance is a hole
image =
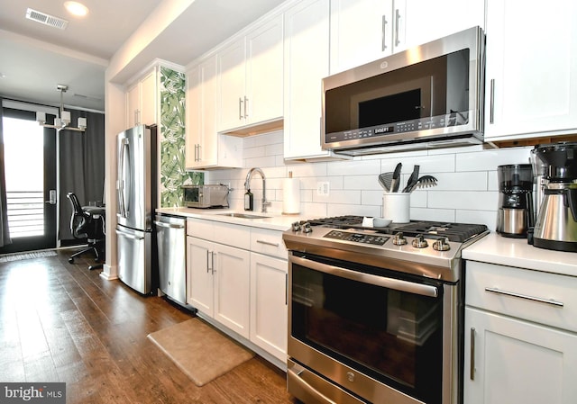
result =
[[[117,136],[118,277],[148,294],[158,275],[152,221],[157,201],[156,126],[140,125]]]

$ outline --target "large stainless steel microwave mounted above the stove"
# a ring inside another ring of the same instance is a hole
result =
[[[362,156],[481,144],[484,49],[473,27],[326,77],[322,148]]]

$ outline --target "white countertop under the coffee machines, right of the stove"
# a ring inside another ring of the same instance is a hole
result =
[[[527,238],[505,238],[494,232],[463,249],[463,259],[577,276],[577,253],[534,247]]]

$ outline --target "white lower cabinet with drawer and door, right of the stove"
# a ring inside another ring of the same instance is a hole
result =
[[[577,398],[577,278],[467,262],[465,404]]]

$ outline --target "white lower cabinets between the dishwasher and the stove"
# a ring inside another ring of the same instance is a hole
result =
[[[275,358],[271,362],[286,364],[288,264],[282,232],[188,219],[187,235],[188,304]]]

